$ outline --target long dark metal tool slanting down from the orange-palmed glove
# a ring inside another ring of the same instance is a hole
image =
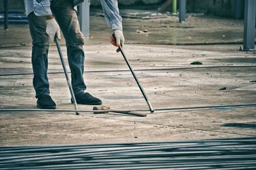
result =
[[[113,38],[114,38],[115,41],[116,41],[115,34],[112,34],[112,36],[113,36]],[[124,60],[125,60],[125,62],[126,62],[126,64],[127,64],[127,66],[129,67],[131,73],[132,73],[132,76],[134,77],[134,79],[135,79],[135,81],[136,81],[138,87],[140,88],[141,93],[143,94],[143,97],[144,97],[145,101],[146,101],[147,104],[148,104],[148,108],[149,108],[150,112],[151,112],[151,113],[154,113],[154,109],[152,108],[152,105],[151,105],[150,101],[148,101],[147,94],[146,94],[145,91],[143,90],[143,87],[141,86],[138,77],[136,76],[134,70],[132,69],[131,63],[130,63],[129,60],[127,59],[127,57],[126,57],[126,55],[125,55],[125,53],[124,53],[124,50],[123,50],[122,46],[118,46],[118,50],[122,53],[122,55],[123,55],[123,57],[124,57]]]

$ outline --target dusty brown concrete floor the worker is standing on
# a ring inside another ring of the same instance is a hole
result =
[[[124,20],[125,22],[128,20]],[[133,28],[129,29],[136,30],[136,26],[131,27]],[[28,34],[25,28],[22,31]],[[2,30],[1,35],[3,35]],[[8,38],[15,39],[15,36],[8,32]],[[133,41],[129,36],[127,39]],[[127,69],[120,53],[115,52],[115,47],[101,40],[94,36],[88,40],[88,45],[84,46],[86,71]],[[150,42],[154,43],[153,40],[150,39]],[[26,43],[29,38],[17,41]],[[100,43],[95,44],[97,41]],[[145,39],[142,39],[141,43],[143,41]],[[8,42],[10,44],[6,43],[8,45],[3,47],[4,43],[1,41],[0,73],[31,72],[31,46],[15,47],[14,41]],[[61,47],[65,53],[65,46]],[[130,44],[125,45],[124,49],[134,69],[194,67],[190,64],[194,61],[202,62],[202,66],[255,66],[255,52],[237,52],[237,48],[237,45]],[[50,48],[49,71],[62,71],[55,46]],[[256,80],[256,67],[136,71],[136,73],[154,108],[256,103],[255,82],[250,82]],[[0,76],[0,108],[36,108],[32,78],[32,75]],[[105,106],[116,110],[147,109],[147,104],[129,71],[86,73],[84,78],[88,92],[102,99]],[[73,109],[64,74],[49,74],[49,80],[51,96],[58,105],[57,109]],[[219,90],[221,87],[227,87],[227,90]],[[92,110],[92,106],[80,104],[79,108]],[[255,107],[157,111],[143,118],[116,113],[101,115],[81,113],[76,116],[74,113],[1,112],[0,121],[2,146],[256,136]]]

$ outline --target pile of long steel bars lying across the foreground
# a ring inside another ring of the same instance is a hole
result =
[[[44,150],[46,147],[49,150]],[[63,150],[66,147],[67,150]],[[195,151],[191,151],[191,147],[195,147]],[[13,148],[18,150],[10,155],[0,152],[0,169],[256,168],[256,152],[253,152],[256,149],[256,138],[103,145],[9,146],[0,147],[0,151],[4,149],[8,153],[8,150],[12,152]],[[33,150],[27,150],[28,148]]]

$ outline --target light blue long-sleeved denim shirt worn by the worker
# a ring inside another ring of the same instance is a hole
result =
[[[24,0],[26,15],[33,12],[37,16],[52,15],[52,0]],[[84,0],[73,0],[74,6],[83,3]],[[87,1],[87,0],[86,0]],[[112,30],[122,31],[122,17],[120,17],[117,0],[100,0],[102,10],[108,26]]]

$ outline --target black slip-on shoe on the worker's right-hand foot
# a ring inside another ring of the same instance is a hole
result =
[[[71,99],[71,103],[73,103]],[[76,95],[76,103],[77,104],[88,104],[88,105],[100,105],[102,101],[100,99],[93,97],[89,93],[81,93]]]

